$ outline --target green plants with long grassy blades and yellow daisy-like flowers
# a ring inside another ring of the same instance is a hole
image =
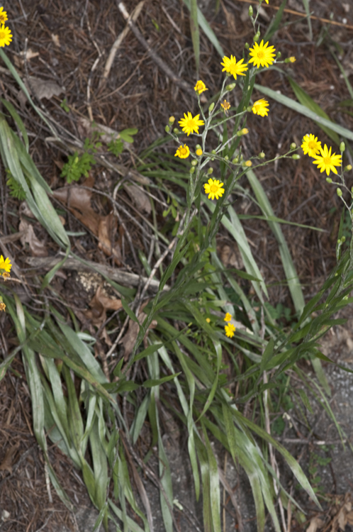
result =
[[[288,507],[298,506],[281,483],[275,451],[282,456],[301,488],[320,506],[316,485],[310,485],[301,466],[275,436],[283,429],[281,409],[290,410],[296,401],[301,402],[304,411],[310,410],[310,394],[333,416],[325,399],[330,390],[320,365],[320,360],[330,360],[320,352],[318,341],[330,327],[344,323],[332,316],[353,302],[349,296],[353,288],[353,242],[349,232],[353,221],[353,191],[346,184],[347,172],[352,167],[342,162],[344,142],[339,143],[340,154],[336,154],[331,146],[322,145],[312,133],[303,135],[304,155],[312,157],[317,170],[326,173],[327,183],[335,185],[344,204],[337,239],[337,265],[305,304],[301,283],[281,231],[284,221],[274,216],[257,177],[262,167],[274,160],[267,160],[264,152],[246,159],[242,155],[242,138],[251,135],[246,127],[249,113],[266,120],[271,112],[267,99],[253,98],[254,88],[265,96],[274,96],[271,89],[257,86],[257,74],[269,67],[285,68],[296,61],[295,57],[281,60],[281,53],[269,42],[279,26],[281,11],[267,34],[260,34],[257,18],[261,4],[260,0],[255,10],[250,6],[254,39],[250,45],[245,45],[243,56],[238,60],[233,55],[222,56],[220,68],[224,79],[219,93],[208,94],[208,104],[203,106],[201,94],[207,94],[208,89],[198,79],[194,90],[199,113],[193,116],[186,110],[179,121],[174,116],[169,117],[166,137],[139,155],[138,172],[145,177],[153,175],[156,182],[151,189],[159,188],[168,199],[169,209],[163,214],[166,228],[159,231],[155,226],[155,234],[164,238],[167,250],[159,254],[152,268],[140,255],[147,280],[138,291],[126,289],[106,277],[121,296],[123,327],[133,323],[138,331],[128,358],[118,358],[111,375],[106,375],[94,356],[95,338],[86,331],[79,331],[72,309],[67,308],[67,315],[64,315],[45,298],[45,294],[55,294],[50,283],[57,270],[65,267],[69,255],[85,261],[71,249],[69,235],[50,201],[52,191],[30,157],[28,136],[21,118],[9,102],[2,100],[22,137],[9,126],[9,116],[1,113],[0,155],[13,180],[9,186],[13,190],[21,187],[33,215],[64,256],[41,279],[38,297],[43,297],[45,313],[33,316],[11,284],[6,284],[11,274],[11,261],[1,255],[0,274],[4,282],[0,284],[0,310],[11,316],[19,345],[1,362],[0,378],[21,351],[33,404],[33,431],[43,450],[50,480],[62,501],[72,508],[72,501],[50,464],[48,440],[81,470],[89,497],[99,510],[95,529],[102,522],[108,529],[109,520],[116,523],[117,531],[121,528],[134,532],[153,529],[150,504],[138,475],[150,472],[147,465],[154,447],[159,458],[156,482],[164,528],[167,532],[172,532],[173,527],[178,529],[173,512],[176,503],[172,475],[162,438],[161,405],[175,416],[187,433],[196,499],[202,497],[203,500],[205,531],[222,530],[220,477],[212,440],[218,440],[234,465],[245,470],[254,496],[259,532],[264,530],[267,513],[276,531],[286,530],[285,512]],[[191,1],[190,9],[197,68],[198,25],[204,22],[198,16],[196,1]],[[0,46],[3,47],[11,40],[9,31],[1,28]],[[211,28],[206,29],[214,40]],[[3,50],[0,55],[30,104],[47,122]],[[232,107],[227,99],[233,91],[237,92],[237,107]],[[277,101],[293,106],[298,112],[304,112],[305,105],[313,107],[299,91],[296,96],[301,104],[287,101],[290,99],[286,100],[286,96],[276,96]],[[309,116],[327,131],[328,120],[318,109],[312,109]],[[335,135],[352,139],[352,133],[342,126],[332,123],[330,128]],[[57,136],[51,124],[50,129]],[[125,130],[121,138],[132,142],[135,132],[134,128]],[[69,155],[62,172],[68,183],[86,177],[91,166],[99,162],[96,157],[100,143],[96,140],[84,143],[83,155],[78,151]],[[162,143],[173,141],[174,155],[168,157],[159,153]],[[112,140],[108,145],[113,155],[119,155],[122,148],[119,140]],[[276,159],[298,160],[298,150],[296,143],[291,143],[290,149]],[[337,175],[337,180],[330,177],[332,173]],[[250,184],[253,200],[262,211],[262,219],[267,221],[279,244],[293,314],[276,302],[273,305],[268,302],[267,285],[247,241],[242,218],[232,204],[232,194],[248,194],[245,179]],[[226,269],[220,261],[215,245],[220,228],[228,231],[237,243],[245,271]],[[159,285],[157,292],[150,296],[152,279],[158,279]],[[118,344],[117,340],[115,342],[111,353]],[[298,362],[303,358],[312,362],[320,384],[300,369]],[[147,378],[138,380],[140,365],[144,365]],[[303,383],[303,388],[293,395],[288,390],[292,376]],[[242,408],[250,402],[252,416],[247,416]],[[132,422],[128,409],[133,412]],[[150,423],[151,443],[142,460],[134,446],[145,421]],[[338,425],[337,430],[342,436]],[[130,470],[134,472],[133,479]],[[313,481],[312,478],[312,484],[318,484],[318,479]],[[135,496],[136,489],[142,508]],[[132,519],[131,509],[139,520]]]

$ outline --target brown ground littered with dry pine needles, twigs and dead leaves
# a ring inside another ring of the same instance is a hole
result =
[[[264,4],[259,16],[263,32],[280,3],[279,0],[270,0],[269,6]],[[138,164],[139,153],[164,135],[169,116],[179,117],[187,110],[196,112],[196,99],[193,94],[196,80],[203,79],[208,87],[208,94],[211,95],[218,91],[222,79],[220,57],[202,31],[201,65],[199,76],[196,77],[189,15],[184,2],[145,0],[136,20],[136,27],[145,41],[138,40],[132,31],[128,31],[104,80],[109,52],[117,36],[126,27],[118,4],[118,1],[113,0],[13,0],[2,4],[8,11],[9,26],[13,33],[13,42],[11,46],[6,47],[5,52],[16,65],[22,79],[28,83],[36,103],[55,121],[57,130],[67,145],[72,145],[74,138],[84,141],[89,134],[89,120],[94,120],[113,131],[138,128],[132,150],[125,151],[118,159],[121,165],[120,174],[118,170],[110,172],[98,165],[91,172],[90,179],[94,181],[96,188],[107,194],[112,194],[121,173],[124,173],[121,168],[133,170]],[[128,13],[137,5],[138,0],[125,1]],[[247,1],[202,0],[199,5],[217,35],[225,55],[239,57],[245,43],[252,39],[252,26],[247,17]],[[353,129],[353,115],[349,106],[340,105],[350,97],[347,85],[330,52],[330,47],[335,47],[337,43],[339,47],[335,48],[335,51],[350,76],[353,72],[353,1],[311,0],[310,9],[315,16],[311,21],[313,40],[309,40],[308,23],[296,14],[303,12],[301,1],[288,0],[283,18],[287,25],[274,34],[271,44],[276,50],[281,50],[282,57],[296,56],[296,62],[284,66],[284,72],[290,74],[332,120]],[[336,25],[327,23],[331,13]],[[153,50],[153,55],[150,55],[148,50]],[[169,70],[166,71],[164,65],[167,65]],[[257,82],[286,96],[295,97],[286,75],[276,70],[262,73]],[[44,92],[40,93],[41,90]],[[64,179],[60,177],[60,172],[70,152],[48,139],[52,136],[50,130],[26,103],[23,93],[19,91],[18,85],[1,62],[0,96],[13,104],[25,123],[30,140],[30,154],[47,183],[53,190],[62,188]],[[262,97],[260,94],[255,96]],[[64,99],[69,112],[64,106],[60,106]],[[323,143],[332,144],[308,118],[299,116],[275,101],[270,101],[270,112],[266,120],[250,116],[247,127],[251,134],[244,138],[243,153],[249,156],[263,150],[268,158],[274,157],[277,153],[287,150],[293,141],[300,144],[301,138],[308,132],[320,135]],[[163,145],[160,150],[173,154],[175,146],[169,143]],[[353,164],[352,157],[347,152],[347,164],[348,162]],[[57,246],[50,241],[39,223],[33,220],[28,222],[26,211],[23,212],[25,207],[20,205],[20,201],[9,196],[5,184],[7,176],[3,167],[0,167],[0,172],[0,240],[3,246],[1,253],[9,250],[19,271],[26,275],[35,287],[38,279],[35,278],[33,270],[28,268],[28,257],[36,260],[52,257],[57,253]],[[335,264],[340,201],[335,190],[318,174],[308,157],[302,157],[299,161],[279,161],[278,165],[265,167],[258,177],[276,216],[323,230],[318,233],[295,226],[282,226],[305,295],[310,297]],[[247,187],[245,181],[243,185]],[[141,274],[141,265],[136,260],[136,253],[139,247],[144,248],[145,242],[136,220],[145,223],[143,216],[152,220],[152,214],[139,210],[134,199],[125,190],[119,194],[125,209],[121,212],[121,223],[125,224],[130,233],[135,249],[126,244],[122,255],[108,259],[97,245],[94,231],[89,232],[88,237],[72,237],[72,248],[77,254],[103,266],[114,266],[118,261],[124,271]],[[89,199],[92,200],[96,214],[108,219],[111,207],[104,196],[96,194]],[[69,231],[82,231],[82,223],[77,216],[73,216],[62,204],[57,203],[55,206],[62,209],[65,227]],[[259,214],[254,204],[247,204],[242,198],[235,201],[235,209],[240,214]],[[159,226],[164,223],[162,210],[161,204],[156,214]],[[24,225],[20,227],[20,223]],[[34,232],[35,238],[23,241],[20,233],[28,231],[28,224],[32,226],[31,231]],[[278,247],[267,224],[249,220],[245,222],[245,230],[254,257],[270,287],[271,303],[276,305],[280,302],[291,308],[288,291],[282,282],[284,272]],[[121,243],[118,237],[117,240]],[[229,236],[220,234],[218,250],[222,253],[225,249],[230,249],[230,255],[237,255]],[[229,259],[230,264],[231,260],[234,259]],[[225,262],[227,263],[227,260]],[[89,308],[88,304],[95,293],[96,285],[90,283],[87,287],[86,282],[82,283],[82,279],[77,279],[76,273],[65,271],[54,279],[53,286],[72,304],[80,323],[87,326],[84,311]],[[37,309],[35,301],[31,301],[27,294],[19,295],[29,308],[33,311]],[[89,327],[92,334],[96,335],[97,330],[92,323],[89,323]],[[6,350],[13,347],[13,343],[11,322],[5,314],[0,316],[0,329],[1,350],[3,356],[6,356]],[[349,322],[345,330],[352,333],[352,322]],[[342,331],[342,328],[335,329],[337,338],[345,334]],[[344,340],[338,338],[335,347],[330,345],[327,349],[330,352],[335,350],[337,360],[342,362],[345,357],[349,364],[352,344],[353,337],[350,334],[347,338],[344,337]],[[352,409],[349,408],[352,377],[332,368],[328,374],[333,392],[332,409],[347,426],[347,436],[352,438],[353,419]],[[0,382],[0,389],[0,530],[91,530],[88,521],[89,500],[82,480],[69,460],[55,447],[50,449],[50,458],[67,493],[72,497],[72,502],[81,509],[81,517],[76,518],[67,511],[55,490],[46,482],[47,472],[31,428],[30,399],[21,358],[15,359],[13,369]],[[327,421],[326,425],[320,426],[320,431],[315,433],[315,438],[327,439],[325,431],[329,429],[331,431]],[[329,434],[332,435],[332,432]],[[304,434],[303,439],[306,436]],[[337,440],[337,436],[330,438]],[[307,451],[304,450],[311,449],[310,445],[315,446],[315,443],[306,441],[302,445],[298,444],[298,457],[302,453],[305,460]],[[171,445],[169,453],[172,462],[175,460],[176,498],[185,508],[189,506],[189,511],[178,514],[181,529],[203,530],[201,506],[195,504],[190,492],[189,472],[185,466],[181,445],[177,448]],[[220,460],[224,466],[223,455]],[[307,460],[309,461],[308,457]],[[346,454],[342,454],[342,448],[337,444],[335,450],[332,450],[331,466],[327,467],[332,482],[330,484],[328,477],[323,480],[327,493],[344,496],[349,489],[353,489],[352,467],[349,466],[352,462],[349,460],[348,450]],[[254,530],[254,507],[246,481],[240,477],[239,482],[236,471],[232,473],[229,470],[227,475],[228,482],[234,487],[235,497],[239,498],[242,504],[244,530]],[[152,499],[153,489],[150,487]],[[223,504],[228,515],[227,530],[232,530],[237,528],[238,519],[228,512],[228,499],[229,497],[225,496]],[[159,526],[162,521],[157,496],[155,516],[155,529],[162,532]],[[293,528],[296,526],[299,525],[294,519]]]

